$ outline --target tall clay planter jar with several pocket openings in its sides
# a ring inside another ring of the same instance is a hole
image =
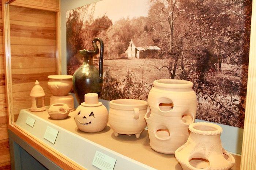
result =
[[[189,136],[188,126],[195,120],[197,99],[193,83],[186,80],[154,81],[148,94],[145,119],[150,146],[155,151],[174,154]]]

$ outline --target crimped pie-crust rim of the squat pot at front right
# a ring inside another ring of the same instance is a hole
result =
[[[212,127],[216,130],[212,130],[212,131],[204,131],[204,130],[198,130],[195,129],[196,126],[206,126],[206,127]],[[199,135],[218,135],[222,133],[222,127],[214,124],[214,123],[208,123],[208,122],[197,122],[197,123],[192,123],[189,125],[188,129],[195,134],[199,134]]]

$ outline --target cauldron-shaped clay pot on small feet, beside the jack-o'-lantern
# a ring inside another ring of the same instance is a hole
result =
[[[135,99],[117,99],[109,103],[109,124],[114,131],[114,135],[118,134],[133,135],[136,138],[146,127],[144,116],[147,112],[147,102]]]

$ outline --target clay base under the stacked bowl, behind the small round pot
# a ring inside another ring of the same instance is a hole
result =
[[[65,103],[68,105],[70,112],[74,111],[74,98],[72,95],[67,95],[67,96],[50,96],[50,105],[55,104],[55,103]]]

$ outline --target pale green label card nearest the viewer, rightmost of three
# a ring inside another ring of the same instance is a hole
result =
[[[116,164],[116,159],[96,151],[93,158],[93,165],[101,170],[113,170]]]

